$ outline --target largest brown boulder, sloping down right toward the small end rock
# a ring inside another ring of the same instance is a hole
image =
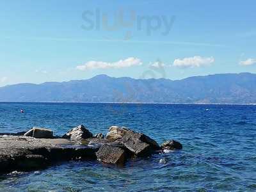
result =
[[[152,140],[152,138],[125,127],[110,127],[107,139],[124,145],[135,156],[148,156],[155,150],[160,149],[157,142]]]

